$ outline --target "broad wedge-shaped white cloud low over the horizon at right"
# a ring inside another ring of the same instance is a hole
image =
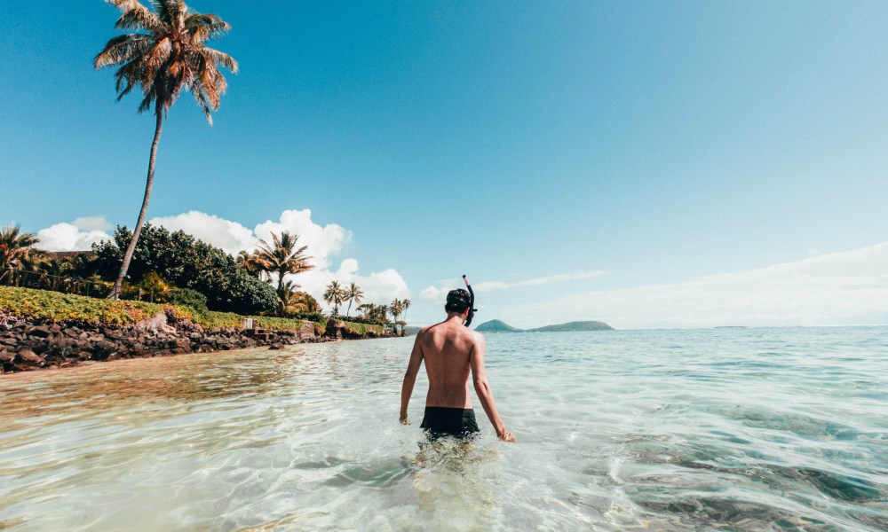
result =
[[[571,294],[513,307],[501,319],[532,325],[540,317],[617,328],[885,324],[888,242],[741,273]]]

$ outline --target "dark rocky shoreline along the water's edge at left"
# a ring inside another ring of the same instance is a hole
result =
[[[138,325],[41,323],[0,313],[0,373],[66,368],[86,361],[185,355],[268,346],[281,349],[297,343],[360,340],[345,325],[330,320],[319,334],[313,322],[297,331],[229,328],[204,331],[189,321],[168,323],[163,314]]]

